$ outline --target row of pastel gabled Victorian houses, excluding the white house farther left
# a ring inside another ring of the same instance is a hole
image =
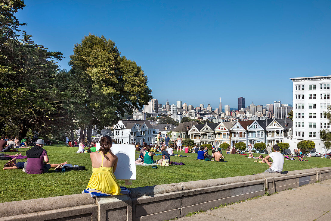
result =
[[[247,120],[220,123],[194,124],[187,122],[179,124],[171,132],[171,140],[190,138],[198,146],[211,144],[219,146],[227,143],[231,147],[238,142],[246,143],[246,146],[263,142],[267,147],[272,147],[278,142],[292,139],[292,120],[287,119],[265,119]]]

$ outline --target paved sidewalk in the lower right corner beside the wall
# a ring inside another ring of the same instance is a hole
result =
[[[183,220],[331,220],[331,180],[208,210]]]

